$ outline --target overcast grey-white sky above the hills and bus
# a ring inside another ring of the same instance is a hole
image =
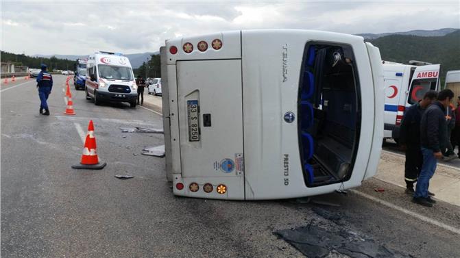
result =
[[[459,1],[1,1],[1,50],[158,51],[166,39],[232,29],[348,34],[460,27]]]

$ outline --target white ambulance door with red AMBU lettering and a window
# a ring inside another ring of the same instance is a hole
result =
[[[439,64],[418,66],[415,68],[411,84],[409,84],[407,105],[413,105],[422,100],[428,90],[439,90],[439,68]]]

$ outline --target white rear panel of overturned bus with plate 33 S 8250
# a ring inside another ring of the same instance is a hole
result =
[[[176,67],[182,179],[200,189],[223,184],[228,198],[243,199],[241,60],[178,61]]]

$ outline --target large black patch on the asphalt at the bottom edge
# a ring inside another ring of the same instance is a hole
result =
[[[352,258],[410,257],[389,250],[374,240],[360,237],[357,233],[344,230],[328,231],[313,224],[274,233],[311,258],[327,257],[331,252]]]

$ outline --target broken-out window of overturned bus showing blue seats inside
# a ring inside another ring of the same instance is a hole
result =
[[[307,187],[350,179],[361,101],[352,47],[307,42],[298,93],[300,160]]]

